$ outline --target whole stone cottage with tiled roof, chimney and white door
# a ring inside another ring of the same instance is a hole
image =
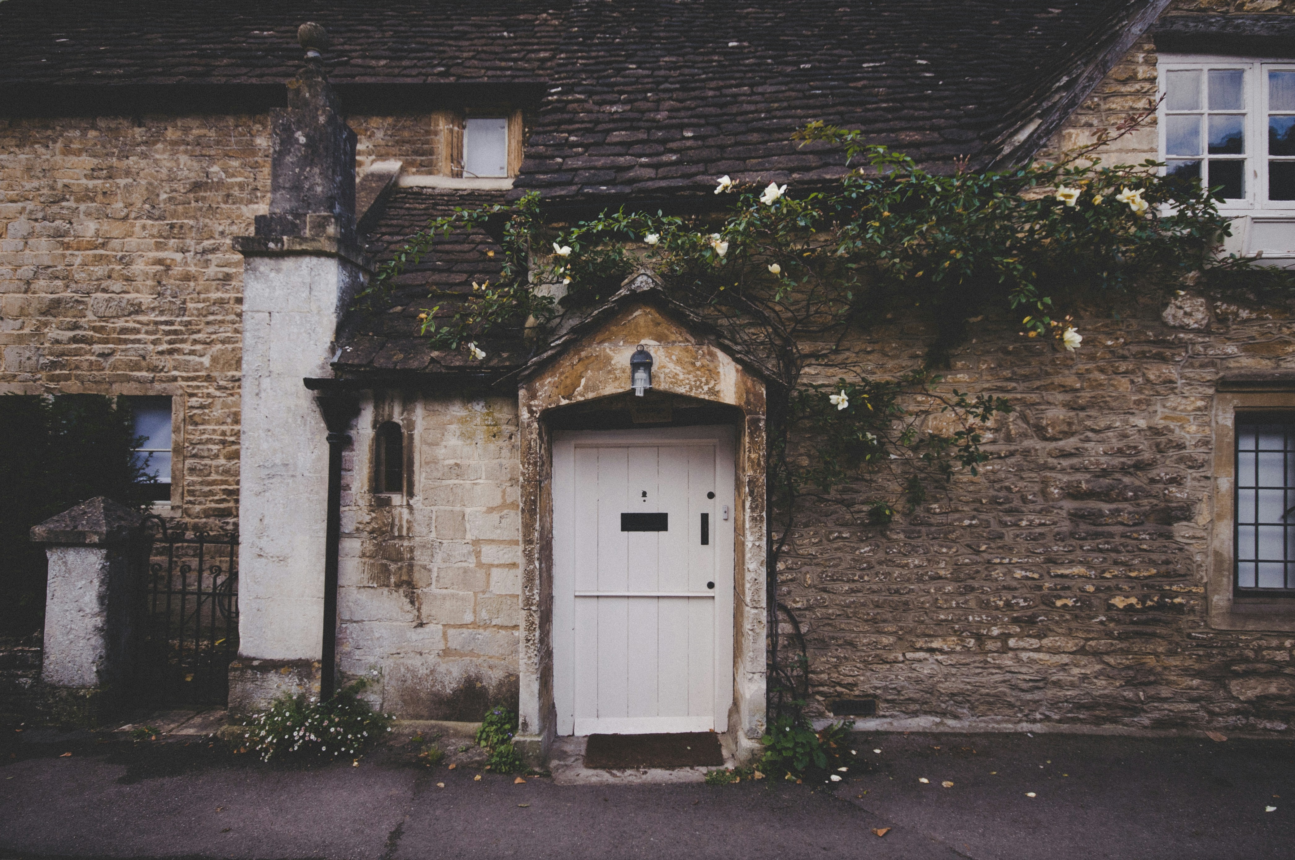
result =
[[[1149,107],[1107,157],[1222,185],[1229,250],[1282,264],[1292,35],[1286,0],[9,0],[0,391],[136,399],[157,510],[237,526],[234,707],[364,676],[405,718],[515,706],[536,755],[707,729],[745,755],[771,633],[758,363],[650,272],[552,341],[434,351],[429,291],[493,277],[495,236],[356,304],[374,267],[530,190],[570,224],[706,212],[721,175],[812,189],[846,168],[790,140],[811,120],[948,171]],[[818,719],[1290,730],[1289,527],[1234,492],[1247,457],[1295,456],[1290,307],[1189,291],[1084,329],[1075,355],[1009,320],[954,351],[951,383],[1018,405],[980,478],[884,527],[800,519],[772,575]],[[886,377],[925,337],[852,348]],[[636,404],[640,345],[660,396]]]

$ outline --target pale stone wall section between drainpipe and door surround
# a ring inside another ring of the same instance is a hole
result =
[[[405,433],[405,493],[373,493],[374,430]],[[517,707],[517,399],[378,392],[344,462],[338,661],[405,719]]]

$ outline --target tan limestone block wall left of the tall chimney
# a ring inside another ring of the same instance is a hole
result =
[[[186,527],[237,521],[242,256],[267,114],[0,117],[0,392],[171,395]],[[431,114],[355,117],[359,164],[433,172]]]

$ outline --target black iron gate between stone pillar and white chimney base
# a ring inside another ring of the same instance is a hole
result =
[[[238,654],[238,536],[172,534],[145,518],[153,548],[140,588],[136,696],[141,705],[224,706]]]

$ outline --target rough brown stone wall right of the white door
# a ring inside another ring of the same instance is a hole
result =
[[[1289,730],[1295,607],[1268,631],[1213,628],[1207,572],[1211,469],[1233,456],[1213,448],[1216,386],[1295,376],[1291,307],[1164,307],[1080,316],[1075,354],[987,317],[944,382],[1017,408],[980,477],[888,526],[803,505],[778,594],[805,626],[820,718],[833,699],[877,697],[864,727]],[[913,322],[853,348],[890,377],[926,343]],[[875,481],[839,497],[866,499]]]

